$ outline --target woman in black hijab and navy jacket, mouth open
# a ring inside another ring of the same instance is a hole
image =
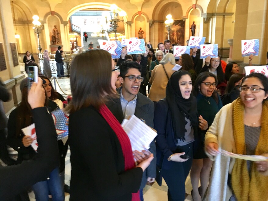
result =
[[[157,166],[162,168],[168,185],[168,200],[185,199],[185,180],[192,165],[198,126],[196,98],[191,91],[189,72],[174,72],[168,81],[166,98],[155,105]]]

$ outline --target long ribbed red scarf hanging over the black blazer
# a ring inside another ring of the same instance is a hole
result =
[[[135,168],[136,164],[128,135],[105,104],[100,107],[100,113],[118,137],[125,160],[125,171]],[[137,193],[132,193],[132,201],[139,200],[139,191]]]

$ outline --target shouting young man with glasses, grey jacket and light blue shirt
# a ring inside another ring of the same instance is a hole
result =
[[[123,62],[120,65],[118,79],[122,83],[122,87],[117,89],[120,97],[110,100],[106,105],[120,123],[122,123],[123,119],[136,115],[153,128],[154,104],[149,98],[139,93],[139,87],[143,81],[140,68],[137,62]],[[149,151],[155,155],[156,146],[154,140],[150,144]],[[154,182],[155,177],[156,158],[152,160],[149,167],[143,172],[143,179],[139,190],[141,201],[143,200],[142,191],[146,182]]]

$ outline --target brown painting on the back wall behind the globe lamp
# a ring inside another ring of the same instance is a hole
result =
[[[185,33],[185,21],[182,19],[174,20],[169,35],[169,40],[171,41],[171,44],[184,45],[184,33]],[[168,39],[167,27],[165,27],[165,36],[166,36],[165,38]]]

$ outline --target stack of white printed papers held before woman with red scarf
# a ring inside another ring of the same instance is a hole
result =
[[[150,148],[150,143],[157,136],[157,133],[153,131],[149,126],[143,123],[135,115],[131,115],[129,120],[122,122],[122,127],[129,136],[132,150],[146,150]]]

